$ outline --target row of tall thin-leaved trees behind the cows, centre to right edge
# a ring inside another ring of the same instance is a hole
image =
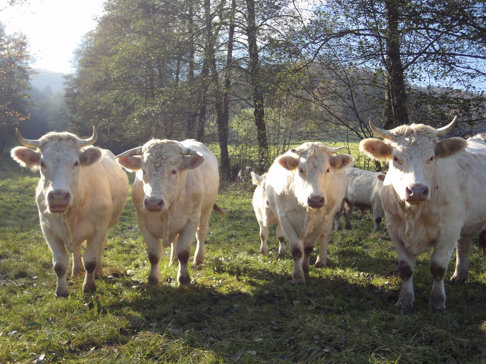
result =
[[[368,121],[485,122],[486,4],[108,0],[75,54],[63,116],[118,152],[149,138],[220,147],[263,171],[302,140],[359,140]]]

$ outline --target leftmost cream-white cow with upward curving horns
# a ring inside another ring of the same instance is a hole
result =
[[[117,223],[128,196],[126,173],[109,150],[87,148],[96,141],[94,127],[89,139],[69,132],[50,132],[38,140],[28,140],[16,132],[25,147],[12,149],[12,158],[24,167],[40,169],[36,202],[57,276],[55,295],[69,295],[67,250],[73,257],[72,276],[82,272],[84,265],[83,292],[94,291],[95,272],[102,274],[106,231]]]

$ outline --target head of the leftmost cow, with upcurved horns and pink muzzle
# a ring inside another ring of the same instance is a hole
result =
[[[25,139],[16,129],[17,138],[25,147],[12,149],[11,156],[23,167],[40,169],[45,204],[54,214],[62,214],[72,205],[78,183],[79,168],[91,165],[101,157],[98,148],[84,148],[96,141],[96,129],[88,139],[79,139],[69,132],[50,132],[37,140]],[[32,150],[36,148],[37,150]]]

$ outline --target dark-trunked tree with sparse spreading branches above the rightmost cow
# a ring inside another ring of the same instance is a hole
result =
[[[412,95],[414,106],[417,99],[435,103],[438,95],[446,94],[449,103],[448,113],[443,109],[415,113],[419,118],[414,122],[444,122],[457,112],[465,119],[472,114],[456,110],[456,105],[469,104],[466,110],[477,110],[477,96],[485,100],[484,87],[476,87],[484,77],[486,61],[485,10],[484,3],[472,0],[326,3],[307,31],[311,36],[303,53],[315,60],[329,52],[344,67],[364,67],[380,74],[382,83],[376,87],[377,93],[383,94],[385,128],[409,123]],[[425,87],[413,88],[413,84]],[[451,92],[415,96],[436,90],[434,84],[455,89],[456,98],[451,99]],[[484,117],[477,121],[484,121]]]

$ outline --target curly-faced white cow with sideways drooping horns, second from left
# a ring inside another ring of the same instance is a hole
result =
[[[179,261],[177,284],[189,285],[187,269],[194,236],[194,265],[203,263],[203,245],[219,186],[218,162],[195,140],[150,140],[116,156],[118,163],[137,171],[132,200],[151,264],[149,283],[160,282],[162,247],[172,243],[171,263]],[[160,242],[162,239],[162,243]]]

